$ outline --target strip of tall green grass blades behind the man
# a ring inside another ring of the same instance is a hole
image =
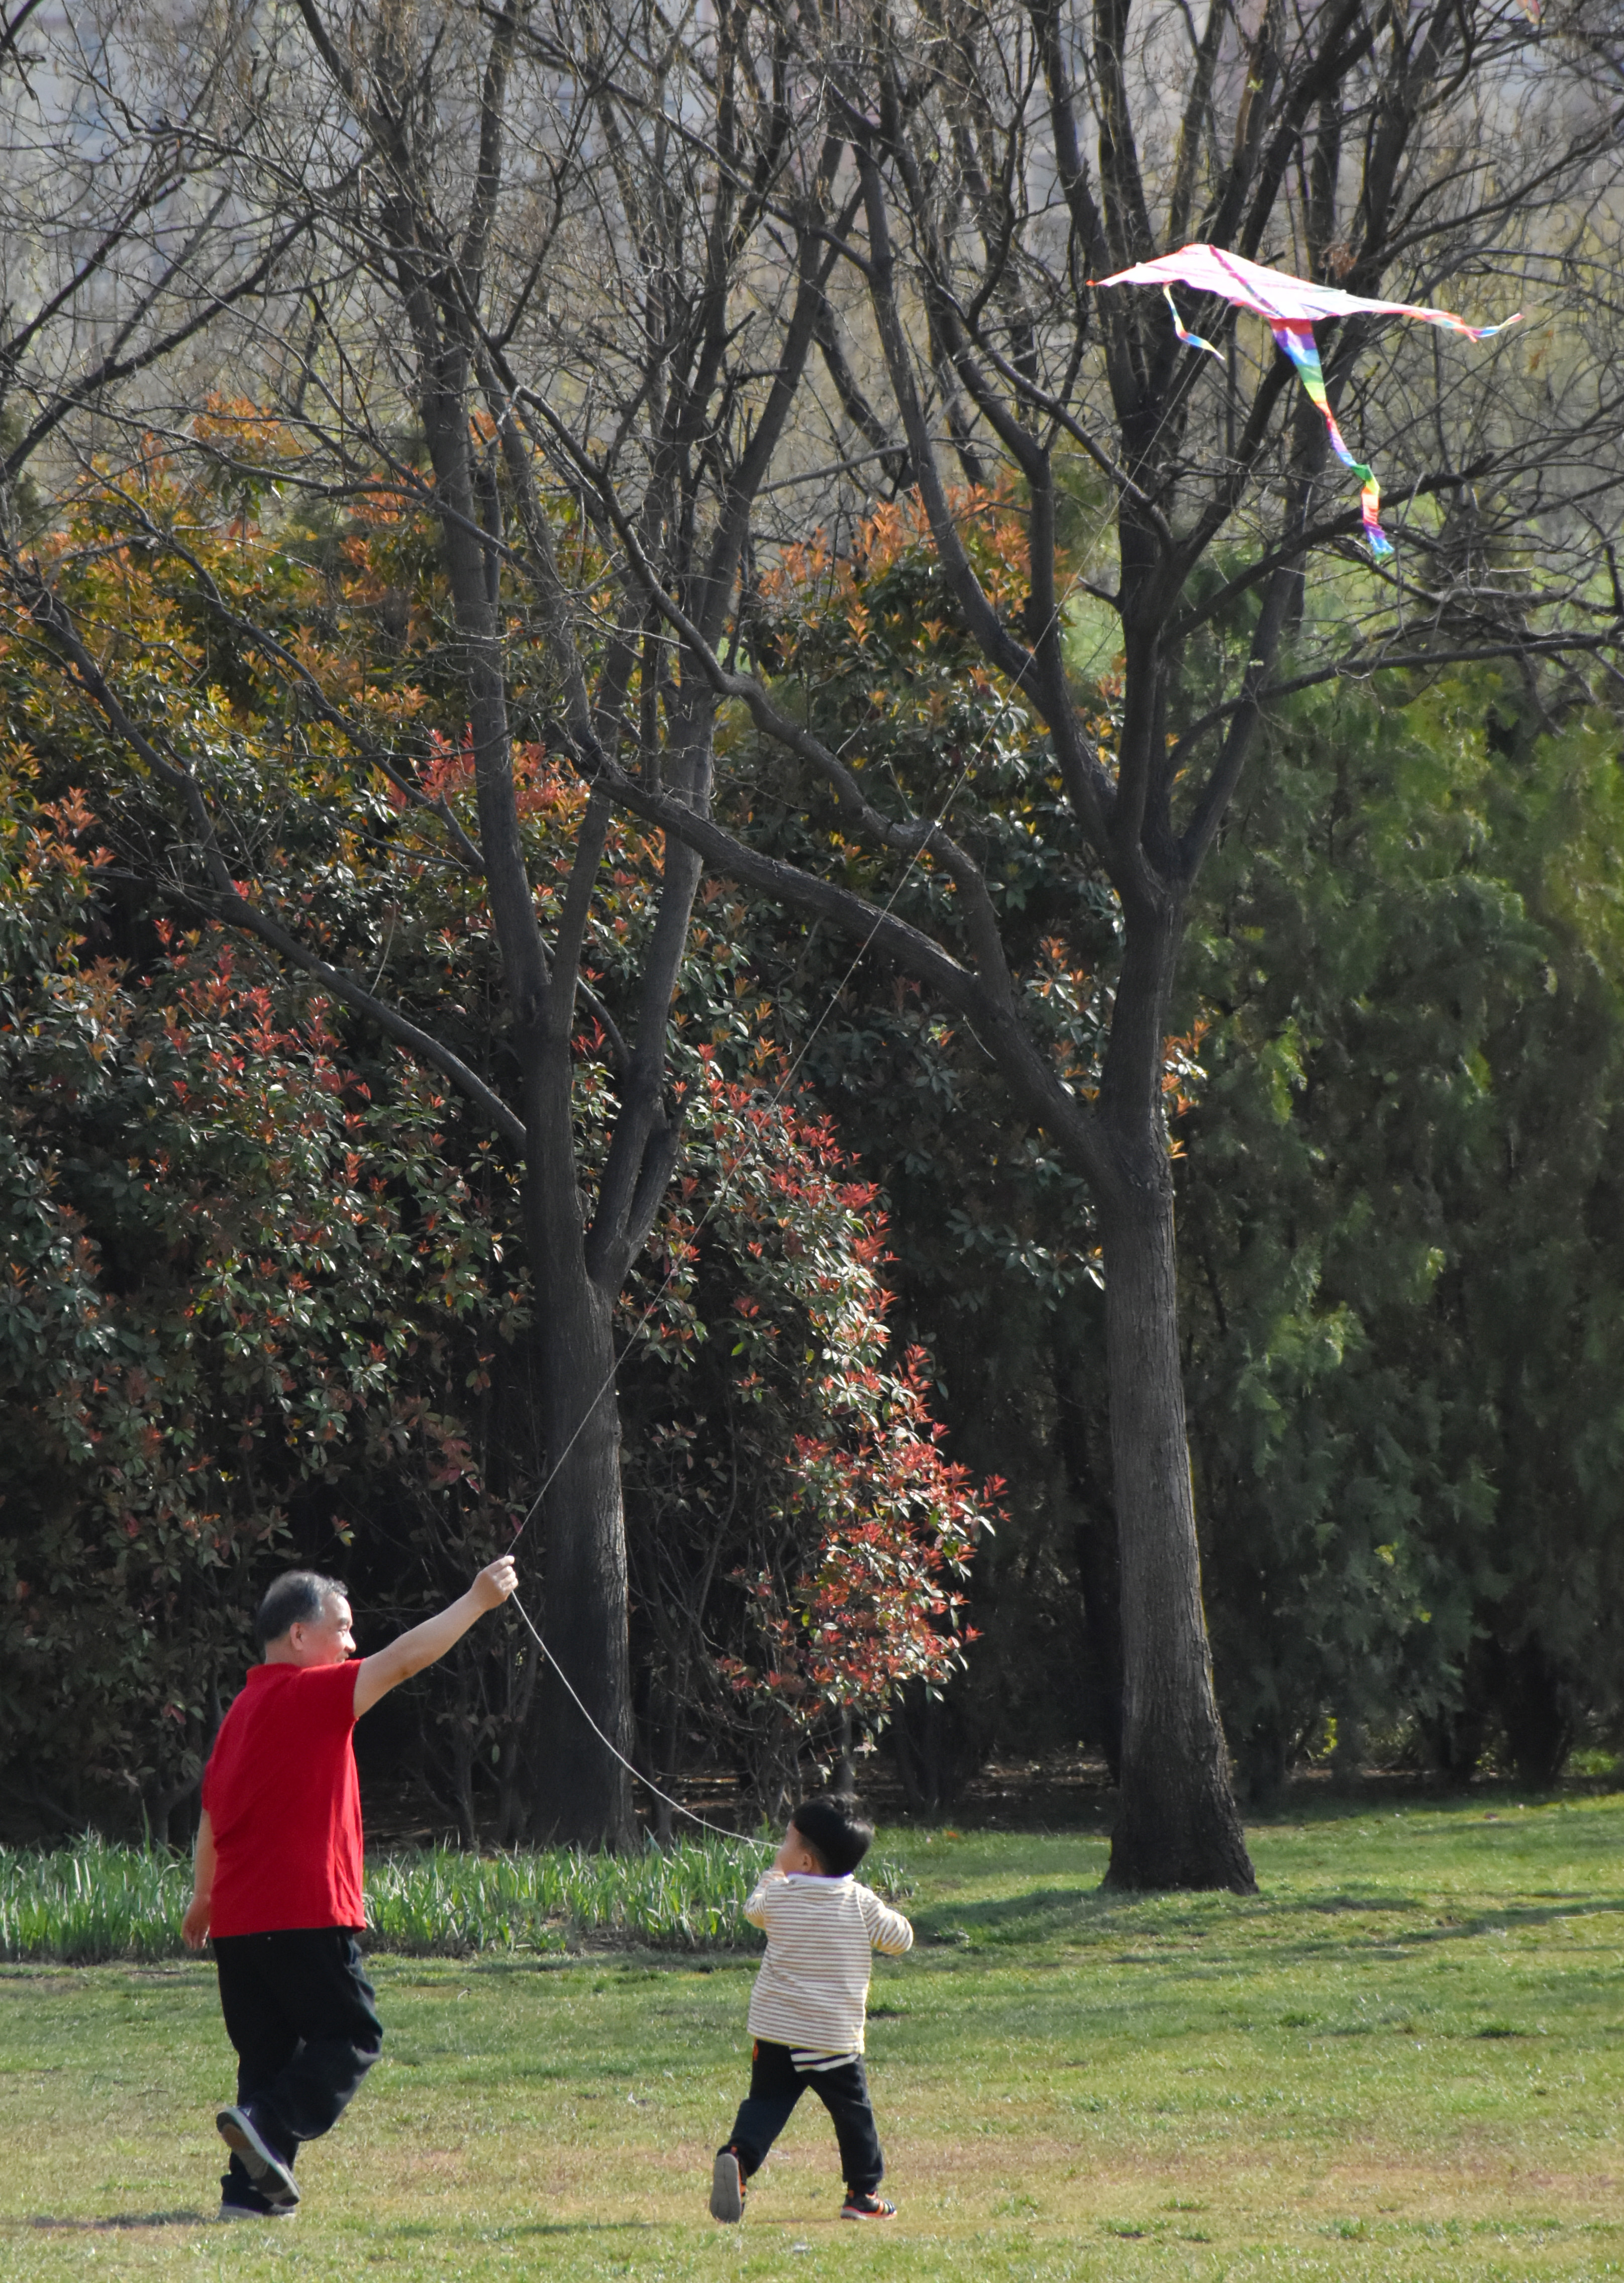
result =
[[[756,1943],[740,1904],[761,1852],[706,1840],[660,1854],[571,1847],[468,1856],[450,1847],[368,1863],[370,1950],[471,1957],[608,1938],[651,1950]],[[80,1840],[48,1854],[0,1847],[0,1959],[96,1966],[183,1957],[185,1856]]]

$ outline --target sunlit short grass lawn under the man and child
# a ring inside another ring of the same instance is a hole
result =
[[[297,2219],[231,2228],[210,1970],[0,1968],[0,2274],[1624,2276],[1624,1804],[1252,1845],[1256,1899],[1117,1902],[1090,1836],[886,1833],[920,1943],[875,1973],[868,2228],[811,2096],[745,2226],[706,2217],[749,1959],[375,1961],[384,2059]]]

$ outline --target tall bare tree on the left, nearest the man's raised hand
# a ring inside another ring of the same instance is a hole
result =
[[[701,858],[667,845],[660,913],[621,1030],[585,973],[608,790],[580,815],[562,913],[544,931],[518,831],[516,742],[539,733],[608,756],[704,815],[715,694],[704,676],[669,671],[628,566],[580,546],[562,559],[557,484],[525,436],[514,370],[546,370],[585,431],[610,436],[617,470],[635,466],[637,564],[656,564],[717,644],[836,260],[822,235],[825,137],[804,132],[809,103],[786,82],[786,46],[772,7],[729,9],[676,39],[653,5],[546,14],[525,0],[450,23],[393,5],[336,23],[320,0],[299,0],[272,41],[274,94],[256,110],[242,180],[267,205],[292,201],[322,260],[302,310],[283,308],[292,352],[256,345],[258,368],[281,386],[276,436],[292,445],[272,452],[267,427],[258,466],[240,431],[212,447],[228,484],[365,495],[434,518],[441,671],[461,683],[477,831],[425,790],[427,749],[379,747],[265,626],[224,591],[215,600],[233,639],[279,655],[290,701],[361,737],[384,774],[441,817],[445,858],[484,881],[509,1007],[512,1062],[496,1084],[448,1043],[455,1005],[443,1018],[407,1016],[317,950],[299,884],[256,874],[222,788],[148,735],[139,705],[96,662],[91,630],[73,623],[48,575],[18,566],[50,646],[169,790],[180,833],[171,861],[201,872],[215,915],[439,1068],[518,1153],[541,1294],[548,1630],[621,1753],[630,1673],[614,1306],[678,1151],[667,1023]],[[763,260],[763,233],[779,231],[786,205],[797,212],[790,240]],[[751,313],[740,320],[742,295]],[[210,447],[196,429],[176,436],[178,447],[199,443]],[[139,509],[132,530],[155,548],[185,546]],[[544,676],[534,626],[553,651]],[[455,991],[452,977],[450,1000]],[[573,1105],[582,1002],[617,1105],[596,1180]],[[537,1692],[532,1769],[537,1833],[608,1845],[630,1836],[626,1772],[582,1731],[553,1671]]]

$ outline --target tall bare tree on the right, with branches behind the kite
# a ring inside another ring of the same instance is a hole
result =
[[[1213,0],[1204,23],[1133,0],[973,0],[825,9],[799,21],[795,62],[825,91],[859,194],[852,228],[836,233],[870,349],[866,418],[843,395],[852,441],[879,422],[893,463],[907,461],[946,605],[980,648],[975,671],[1044,724],[1058,792],[1117,897],[1096,1087],[1069,1078],[1028,1016],[998,863],[975,826],[946,829],[975,753],[943,751],[898,783],[866,765],[861,737],[834,747],[793,692],[738,671],[660,580],[612,473],[555,404],[553,436],[644,571],[685,676],[704,671],[742,701],[758,733],[751,767],[783,756],[772,790],[825,815],[834,861],[767,858],[747,831],[685,817],[608,756],[598,781],[916,975],[973,1025],[1012,1103],[1087,1180],[1121,1536],[1110,1879],[1245,1890],[1179,1370],[1163,1114],[1179,952],[1201,863],[1281,689],[1505,651],[1533,676],[1539,660],[1617,642],[1606,532],[1617,381],[1613,356],[1594,356],[1610,338],[1599,233],[1619,167],[1615,34],[1585,0],[1551,37],[1510,0]],[[1364,295],[1448,295],[1480,322],[1537,297],[1537,336],[1501,349],[1441,349],[1364,317],[1320,329],[1329,400],[1354,434],[1380,438],[1389,489],[1407,502],[1391,518],[1393,562],[1364,557],[1325,420],[1268,336],[1259,345],[1224,301],[1185,308],[1188,329],[1222,349],[1220,379],[1156,295],[1090,288],[1185,240]],[[1583,352],[1567,347],[1571,324]],[[971,486],[1016,486],[1023,591],[978,566],[955,463]],[[1106,505],[1067,550],[1080,466]],[[818,479],[827,486],[827,470]],[[852,842],[932,872],[946,890],[934,922],[863,893]]]

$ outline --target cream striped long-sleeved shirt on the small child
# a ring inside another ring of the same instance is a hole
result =
[[[804,1872],[761,1879],[745,1918],[767,1931],[767,1957],[749,1995],[751,2036],[804,2055],[861,2052],[873,1952],[911,1950],[907,1918],[850,1874]]]

